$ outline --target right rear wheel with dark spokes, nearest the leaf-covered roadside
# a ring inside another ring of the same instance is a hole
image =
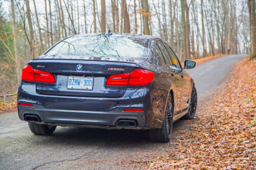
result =
[[[150,139],[154,142],[168,142],[172,137],[173,132],[173,97],[171,94],[168,96],[166,104],[163,126],[160,129],[150,129]]]

